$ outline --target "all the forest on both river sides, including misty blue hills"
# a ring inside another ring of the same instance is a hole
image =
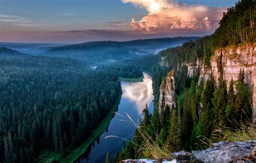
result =
[[[227,87],[222,76],[218,85],[214,74],[199,80],[200,70],[189,77],[184,63],[199,60],[210,67],[218,48],[255,43],[255,18],[255,1],[241,0],[227,9],[212,35],[201,38],[64,45],[42,56],[0,47],[0,162],[39,162],[44,151],[64,158],[112,113],[122,94],[120,78],[142,79],[142,71],[152,74],[153,114],[145,104],[133,139],[123,142],[113,159],[107,154],[106,162],[170,159],[172,152],[201,150],[223,140],[218,132],[223,128],[231,133],[250,128],[252,92],[244,70]],[[174,43],[184,44],[143,53]],[[176,107],[159,109],[160,85],[169,72],[175,74]]]

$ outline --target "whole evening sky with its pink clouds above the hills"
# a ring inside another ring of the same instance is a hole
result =
[[[205,36],[237,0],[0,0],[0,42]]]

